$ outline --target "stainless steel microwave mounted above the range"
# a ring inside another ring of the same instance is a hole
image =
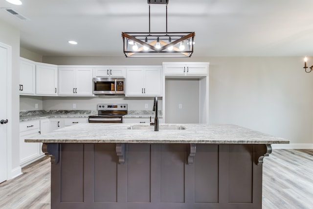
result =
[[[125,78],[93,78],[93,93],[96,95],[125,95]]]

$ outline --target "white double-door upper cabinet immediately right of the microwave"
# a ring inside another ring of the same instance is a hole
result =
[[[140,66],[126,70],[126,96],[161,96],[162,75],[159,66]]]

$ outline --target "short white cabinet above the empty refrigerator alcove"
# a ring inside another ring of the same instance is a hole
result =
[[[164,62],[163,70],[166,76],[206,76],[208,73],[209,63],[181,63],[181,62]]]

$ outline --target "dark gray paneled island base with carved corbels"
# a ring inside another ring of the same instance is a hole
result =
[[[269,144],[44,143],[51,209],[262,209]]]

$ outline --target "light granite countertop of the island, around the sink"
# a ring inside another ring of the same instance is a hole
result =
[[[289,140],[273,137],[241,126],[228,124],[160,124],[183,126],[185,130],[131,130],[125,123],[81,123],[48,134],[25,139],[44,143],[221,143],[221,144],[286,144]]]

